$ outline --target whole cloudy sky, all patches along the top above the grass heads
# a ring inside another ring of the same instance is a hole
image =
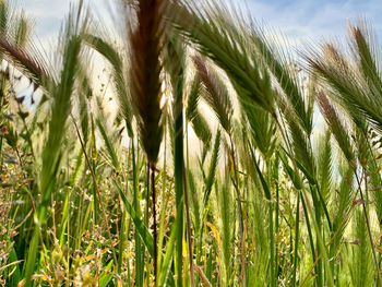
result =
[[[241,7],[252,16],[267,24],[290,43],[318,41],[344,36],[348,21],[366,17],[382,38],[381,0],[227,0]],[[17,0],[16,5],[27,11],[35,21],[35,33],[41,43],[53,40],[70,0]],[[96,14],[110,14],[106,2],[88,0]],[[247,4],[246,4],[247,3]],[[380,41],[381,43],[381,41]]]

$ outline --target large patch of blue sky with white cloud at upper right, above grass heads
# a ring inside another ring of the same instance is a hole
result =
[[[238,0],[241,7],[250,10],[258,21],[280,31],[291,43],[321,40],[346,34],[348,21],[366,17],[377,34],[382,34],[382,3],[366,1],[275,1]]]

